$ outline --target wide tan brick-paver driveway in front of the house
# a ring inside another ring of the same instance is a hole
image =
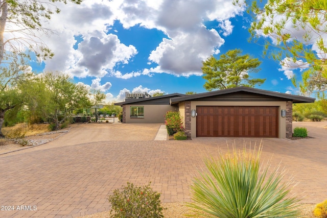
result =
[[[314,138],[264,139],[262,158],[267,161],[273,154],[272,166],[282,161],[298,182],[293,192],[302,203],[318,203],[327,199],[327,123],[305,125]],[[225,152],[226,141],[243,147],[240,138],[154,141],[159,126],[81,125],[43,146],[0,156],[0,209],[14,206],[13,211],[0,210],[0,217],[75,217],[105,211],[108,194],[127,181],[151,181],[163,202],[190,201],[189,184],[203,158],[219,149]],[[245,142],[253,147],[258,140]],[[25,207],[17,208],[21,205]]]

